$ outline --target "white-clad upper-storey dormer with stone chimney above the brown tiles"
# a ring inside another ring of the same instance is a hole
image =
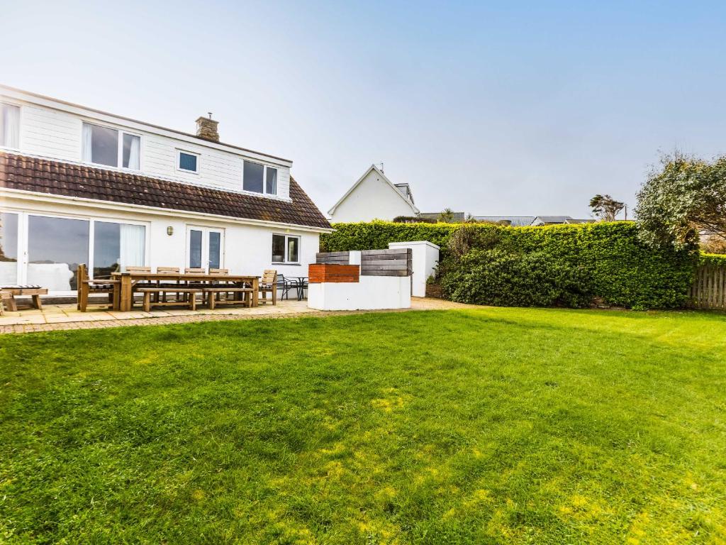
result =
[[[0,117],[1,150],[290,200],[293,162],[219,142],[211,115],[189,134],[0,86]]]

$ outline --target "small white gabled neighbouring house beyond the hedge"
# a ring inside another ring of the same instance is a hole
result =
[[[408,184],[394,184],[386,174],[371,165],[328,211],[331,222],[370,222],[398,216],[417,216]]]

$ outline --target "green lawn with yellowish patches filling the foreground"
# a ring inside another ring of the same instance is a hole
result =
[[[726,316],[0,336],[7,543],[726,542]]]

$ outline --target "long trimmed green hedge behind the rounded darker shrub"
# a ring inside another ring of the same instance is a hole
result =
[[[463,262],[449,255],[449,239],[457,230],[467,229],[473,233],[473,249],[498,249],[511,254],[543,252],[558,262],[582,269],[592,296],[608,304],[638,309],[683,306],[698,262],[698,254],[692,248],[674,251],[646,246],[632,222],[504,227],[376,221],[333,227],[334,233],[321,236],[321,251],[383,249],[388,248],[389,242],[404,241],[438,244],[444,251],[441,280],[447,271]],[[473,296],[469,300],[473,302]]]

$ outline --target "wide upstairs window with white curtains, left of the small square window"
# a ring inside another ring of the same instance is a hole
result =
[[[83,124],[83,161],[139,170],[141,137],[110,127]]]

